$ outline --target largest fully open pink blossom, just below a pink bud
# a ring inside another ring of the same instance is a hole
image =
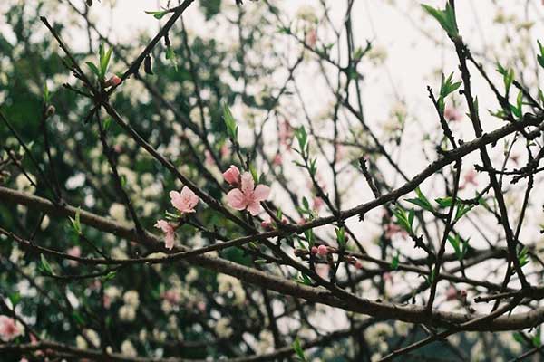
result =
[[[240,183],[240,188],[228,192],[228,205],[236,210],[248,210],[249,214],[255,216],[260,211],[260,202],[267,200],[270,195],[270,187],[255,186],[253,176],[248,172],[242,174]]]

